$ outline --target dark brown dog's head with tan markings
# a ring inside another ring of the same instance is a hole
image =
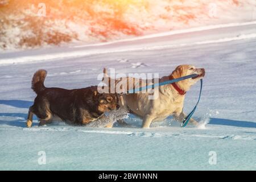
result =
[[[101,113],[108,112],[119,108],[118,97],[111,93],[93,93],[94,101],[97,102],[97,110]]]

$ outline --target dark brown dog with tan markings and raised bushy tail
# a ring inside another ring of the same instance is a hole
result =
[[[28,111],[27,127],[32,126],[33,114],[40,119],[39,125],[45,125],[53,118],[74,125],[86,125],[104,116],[106,111],[119,107],[115,94],[98,93],[97,86],[73,90],[46,88],[46,75],[47,72],[41,69],[32,78],[31,88],[38,95]]]

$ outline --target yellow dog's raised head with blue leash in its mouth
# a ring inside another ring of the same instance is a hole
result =
[[[197,81],[199,81],[201,78],[205,75],[205,69],[204,68],[196,68],[194,65],[179,65],[170,76],[173,78],[179,78],[187,75],[196,74],[196,77],[188,78],[186,80],[182,80],[179,82],[176,82],[176,84],[183,89],[185,92],[189,90],[189,88],[195,84]]]

